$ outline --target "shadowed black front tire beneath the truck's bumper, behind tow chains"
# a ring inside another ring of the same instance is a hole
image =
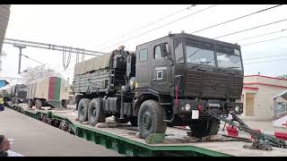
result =
[[[208,123],[208,125],[207,125]],[[196,121],[189,125],[189,135],[196,138],[203,138],[205,136],[216,135],[220,128],[220,120],[213,119],[210,121]]]

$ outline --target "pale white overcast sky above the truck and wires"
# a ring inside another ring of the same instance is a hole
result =
[[[13,4],[11,5],[10,20],[5,38],[30,40],[67,47],[81,47],[101,52],[110,52],[123,45],[127,50],[135,51],[137,45],[167,36],[169,32],[178,33],[184,30],[186,33],[191,33],[223,21],[228,21],[274,6],[274,4],[217,4],[214,6],[213,4],[196,4],[196,6],[186,9],[190,5],[191,4]],[[210,8],[200,12],[207,7]],[[195,35],[205,38],[216,38],[239,30],[260,26],[265,23],[281,21],[287,19],[286,11],[287,5],[282,5],[262,13],[239,19],[238,21],[231,21],[209,30],[197,32]],[[176,14],[159,21],[171,13]],[[190,15],[192,13],[195,14]],[[154,21],[158,22],[143,28]],[[287,38],[281,38],[287,36],[287,30],[284,29],[287,29],[287,21],[216,39],[238,43],[241,46],[245,75],[260,72],[262,75],[277,76],[286,74]],[[149,30],[152,31],[147,32]],[[146,33],[143,34],[144,32]],[[276,33],[257,38],[249,38],[270,32]],[[128,38],[131,39],[121,42]],[[239,40],[242,38],[249,39]],[[246,45],[273,38],[280,39]],[[3,50],[7,55],[3,59],[3,70],[0,72],[0,76],[20,77],[17,73],[19,49],[12,45],[4,44]],[[75,55],[72,55],[71,64],[69,64],[67,70],[64,71],[62,52],[60,51],[27,47],[22,50],[22,54],[28,55],[42,64],[48,64],[49,68],[60,72],[65,78],[70,78],[70,82],[73,80]],[[258,58],[273,55],[275,56]],[[86,55],[85,59],[88,58],[91,58],[91,56]],[[265,63],[258,64],[258,62]],[[39,66],[39,64],[22,57],[22,70],[27,67],[33,68],[36,66]]]

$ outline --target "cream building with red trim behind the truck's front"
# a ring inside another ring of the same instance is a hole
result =
[[[263,75],[244,77],[241,101],[243,119],[271,121],[274,116],[274,96],[287,89],[287,80]]]

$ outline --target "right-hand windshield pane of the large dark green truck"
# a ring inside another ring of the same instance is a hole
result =
[[[239,49],[216,45],[215,50],[218,67],[242,70]]]

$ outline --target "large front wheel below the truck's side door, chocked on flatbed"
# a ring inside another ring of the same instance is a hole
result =
[[[167,123],[163,122],[164,108],[155,100],[146,100],[138,111],[138,127],[145,140],[151,133],[165,133]]]

